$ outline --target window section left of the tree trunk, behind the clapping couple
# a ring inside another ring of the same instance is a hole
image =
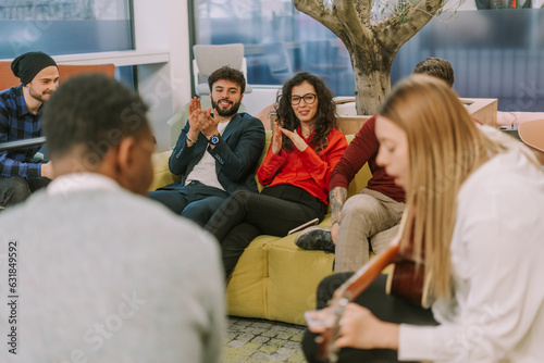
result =
[[[335,95],[353,95],[354,74],[342,41],[289,0],[195,0],[197,43],[242,42],[251,85],[281,85],[301,71]]]

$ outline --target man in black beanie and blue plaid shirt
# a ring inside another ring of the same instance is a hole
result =
[[[0,91],[0,142],[41,136],[42,104],[59,87],[59,68],[44,52],[11,63],[21,85]],[[34,159],[39,146],[0,152],[0,209],[22,202],[52,179],[51,163]]]

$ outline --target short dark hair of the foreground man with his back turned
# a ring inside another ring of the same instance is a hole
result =
[[[51,157],[86,148],[86,158],[100,163],[126,136],[150,130],[141,98],[101,74],[74,76],[62,83],[44,108],[44,132]]]

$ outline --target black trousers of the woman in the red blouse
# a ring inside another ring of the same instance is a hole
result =
[[[225,277],[228,277],[257,236],[286,236],[308,221],[322,221],[325,212],[325,204],[304,189],[280,185],[264,188],[261,193],[236,191],[212,215],[206,229],[221,243]]]

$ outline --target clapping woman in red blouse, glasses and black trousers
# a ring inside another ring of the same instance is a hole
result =
[[[236,191],[206,225],[221,242],[226,277],[257,236],[286,236],[323,220],[329,178],[347,147],[335,126],[333,96],[320,78],[300,73],[284,84],[272,142],[257,171],[264,188]]]

